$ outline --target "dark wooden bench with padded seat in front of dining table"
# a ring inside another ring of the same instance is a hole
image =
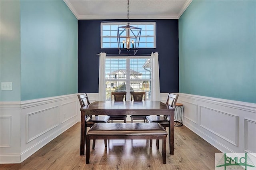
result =
[[[86,134],[86,164],[90,160],[91,139],[162,139],[162,157],[165,164],[166,136],[166,130],[159,123],[96,123]]]

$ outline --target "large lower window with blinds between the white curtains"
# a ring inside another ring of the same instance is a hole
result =
[[[146,100],[151,94],[151,57],[106,57],[106,101],[111,92],[145,91]]]

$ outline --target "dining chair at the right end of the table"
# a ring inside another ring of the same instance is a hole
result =
[[[173,107],[175,109],[175,105],[177,103],[179,95],[174,95],[172,93],[168,94],[166,105],[169,105],[170,107]],[[146,116],[147,122],[151,123],[160,123],[162,127],[166,130],[166,127],[169,127],[169,115],[156,115],[156,116]],[[150,146],[152,146],[152,140],[150,140]],[[159,140],[156,140],[156,148],[159,148]]]

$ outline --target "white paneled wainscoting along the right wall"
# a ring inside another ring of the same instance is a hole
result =
[[[179,93],[184,125],[222,152],[256,152],[256,104]]]

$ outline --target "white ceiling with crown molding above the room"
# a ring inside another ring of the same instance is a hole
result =
[[[129,0],[129,19],[178,19],[192,0]],[[64,0],[78,20],[127,19],[127,0]]]

